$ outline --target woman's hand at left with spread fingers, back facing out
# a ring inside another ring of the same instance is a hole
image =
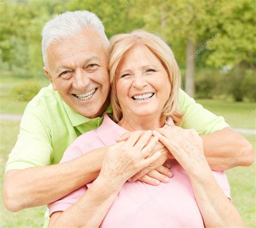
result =
[[[99,176],[109,179],[113,184],[123,185],[127,179],[155,162],[161,153],[149,156],[158,142],[157,137],[150,140],[151,136],[151,130],[145,133],[137,131],[131,134],[127,141],[111,147],[104,158]]]

